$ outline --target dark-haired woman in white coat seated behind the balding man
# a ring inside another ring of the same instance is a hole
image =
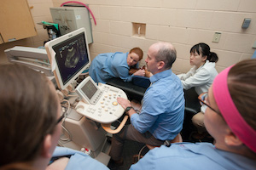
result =
[[[190,65],[194,66],[186,74],[177,75],[183,83],[183,88],[195,88],[198,95],[207,92],[214,78],[218,75],[215,69],[217,61],[218,55],[211,52],[206,43],[195,44],[190,49]],[[198,129],[199,134],[197,136],[201,136],[205,132],[204,111],[205,108],[201,107],[201,112],[192,117],[192,122]]]

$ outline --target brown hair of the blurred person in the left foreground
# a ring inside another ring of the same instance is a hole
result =
[[[53,133],[59,100],[49,79],[24,65],[0,66],[0,167],[33,161]]]

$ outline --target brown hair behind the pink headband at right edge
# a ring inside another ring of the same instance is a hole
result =
[[[228,87],[237,110],[256,130],[256,59],[234,65],[229,72]]]

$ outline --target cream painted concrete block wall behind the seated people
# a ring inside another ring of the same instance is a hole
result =
[[[66,1],[52,0],[55,7]],[[189,49],[206,42],[218,54],[217,70],[222,71],[241,59],[250,59],[256,41],[255,0],[81,0],[89,4],[97,25],[91,20],[93,44],[91,57],[108,52],[127,52],[140,47],[147,57],[154,42],[172,42],[177,61],[172,70],[189,71]],[[251,18],[247,29],[241,29],[244,18]],[[132,23],[146,24],[145,37],[132,35]],[[221,32],[218,43],[214,32]]]

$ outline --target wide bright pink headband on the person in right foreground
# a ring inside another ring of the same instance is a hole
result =
[[[226,68],[214,79],[212,84],[214,99],[232,132],[241,139],[243,144],[256,152],[256,131],[242,118],[230,96],[228,74],[231,67]]]

